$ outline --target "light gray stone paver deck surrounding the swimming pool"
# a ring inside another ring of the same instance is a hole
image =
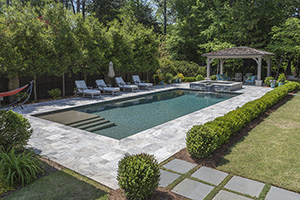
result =
[[[185,148],[186,132],[193,125],[211,121],[237,107],[243,106],[249,101],[260,98],[271,90],[265,87],[243,86],[243,89],[236,91],[240,93],[236,97],[121,140],[96,135],[32,116],[48,111],[122,99],[172,88],[189,88],[189,84],[156,86],[153,90],[140,90],[135,93],[122,92],[120,96],[102,95],[101,99],[77,97],[42,102],[25,105],[24,109],[16,109],[15,111],[29,119],[34,129],[29,145],[37,153],[103,185],[117,189],[118,161],[125,153],[144,152],[154,154],[158,162],[162,162]]]

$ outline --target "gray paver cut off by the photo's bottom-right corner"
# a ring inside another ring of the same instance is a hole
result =
[[[299,200],[300,194],[271,186],[266,196],[266,200]]]

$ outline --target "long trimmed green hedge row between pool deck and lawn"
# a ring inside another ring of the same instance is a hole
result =
[[[259,99],[248,102],[244,106],[216,118],[214,121],[193,126],[187,132],[186,146],[188,152],[193,157],[208,157],[214,150],[226,143],[231,135],[299,87],[299,83],[289,82],[266,93]]]

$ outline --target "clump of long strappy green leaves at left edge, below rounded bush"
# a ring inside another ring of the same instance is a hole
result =
[[[43,165],[32,152],[15,152],[0,149],[0,173],[8,186],[27,185],[37,179],[37,174],[43,172]]]

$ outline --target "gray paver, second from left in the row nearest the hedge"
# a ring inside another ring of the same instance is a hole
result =
[[[211,169],[208,167],[201,167],[192,174],[192,177],[198,178],[202,181],[206,181],[214,185],[219,185],[227,175],[227,173],[221,172],[219,170]]]

